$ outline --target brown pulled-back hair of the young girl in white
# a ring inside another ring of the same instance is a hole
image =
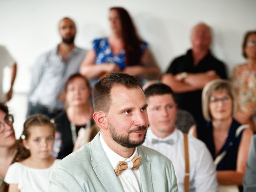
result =
[[[31,128],[32,126],[49,126],[52,128],[53,135],[55,134],[55,124],[50,121],[48,117],[42,114],[36,114],[30,116],[25,122],[23,126],[23,132],[18,140],[17,145],[17,153],[14,156],[12,163],[20,162],[30,156],[30,151],[25,148],[22,143],[22,140],[28,139],[31,135]]]

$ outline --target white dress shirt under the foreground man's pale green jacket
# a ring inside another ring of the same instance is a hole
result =
[[[116,164],[118,161],[125,161],[129,162],[136,156],[138,156],[137,148],[135,148],[134,153],[128,159],[118,155],[112,149],[108,147],[102,135],[100,134],[100,142],[105,153],[108,156],[108,160],[110,161],[111,165],[113,166],[113,171],[116,168]],[[141,182],[140,182],[140,170],[125,170],[121,175],[117,176],[122,188],[125,192],[140,192]]]

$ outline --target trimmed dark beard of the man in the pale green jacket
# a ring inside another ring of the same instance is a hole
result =
[[[110,124],[109,126],[109,131],[110,131],[110,136],[111,138],[117,142],[118,144],[120,144],[123,147],[127,147],[127,148],[134,148],[137,146],[140,146],[141,144],[144,143],[145,139],[146,139],[146,133],[144,135],[144,138],[142,141],[132,141],[129,138],[129,133],[131,132],[137,132],[137,131],[142,131],[142,130],[146,130],[146,126],[138,126],[135,129],[129,130],[127,135],[118,135],[116,133],[116,130],[114,128],[114,126],[112,126],[112,124]]]

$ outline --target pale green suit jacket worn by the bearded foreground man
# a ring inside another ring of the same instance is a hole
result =
[[[142,192],[178,191],[170,160],[145,146],[141,156]],[[123,192],[122,186],[100,143],[100,134],[76,152],[64,158],[50,174],[50,192]]]

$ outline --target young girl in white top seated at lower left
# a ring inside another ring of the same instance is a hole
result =
[[[41,114],[30,116],[18,140],[18,152],[4,181],[9,192],[48,192],[49,174],[60,160],[52,157],[55,125]]]

